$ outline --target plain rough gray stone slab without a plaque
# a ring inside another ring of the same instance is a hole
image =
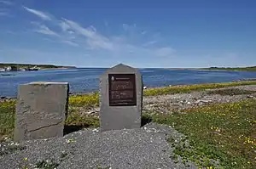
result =
[[[16,104],[15,141],[62,137],[67,117],[67,82],[20,85]]]

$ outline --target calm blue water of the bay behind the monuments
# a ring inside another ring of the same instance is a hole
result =
[[[0,96],[16,97],[17,87],[27,82],[69,82],[70,92],[94,92],[99,88],[99,76],[106,69],[87,68],[73,70],[39,70],[0,72]],[[256,72],[141,69],[144,86],[165,87],[180,84],[207,82],[231,82],[244,78],[256,78]]]

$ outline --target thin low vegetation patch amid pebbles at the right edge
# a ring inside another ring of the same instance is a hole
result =
[[[207,92],[207,94],[219,94],[219,95],[241,95],[241,94],[253,94],[256,93],[255,91],[248,91],[248,90],[241,90],[239,88],[227,88],[227,89],[220,89],[220,90],[212,90]]]

